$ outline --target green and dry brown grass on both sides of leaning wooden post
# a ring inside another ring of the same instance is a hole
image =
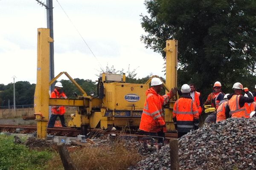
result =
[[[23,142],[26,138],[22,138]],[[55,150],[32,150],[15,144],[14,136],[0,135],[0,170],[64,170]],[[70,153],[78,170],[125,170],[143,159],[134,146],[124,141],[112,144],[89,145]]]

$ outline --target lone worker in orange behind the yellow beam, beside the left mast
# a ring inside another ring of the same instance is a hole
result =
[[[51,94],[51,98],[67,99],[67,96],[62,91],[62,88],[63,88],[63,86],[62,86],[61,82],[56,82],[55,89]],[[49,119],[48,127],[49,128],[54,127],[54,124],[55,124],[55,121],[56,121],[57,117],[60,118],[62,127],[67,127],[65,125],[65,119],[64,119],[64,113],[65,112],[66,112],[66,109],[65,109],[64,106],[52,106],[52,115]]]

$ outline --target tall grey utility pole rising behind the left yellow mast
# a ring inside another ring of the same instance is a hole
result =
[[[53,7],[52,0],[46,1],[47,6],[47,28],[50,29],[50,37],[53,39]],[[53,39],[54,40],[54,39]],[[51,81],[54,78],[54,46],[53,42],[50,42],[50,79]],[[54,84],[51,85],[50,91],[54,90]]]

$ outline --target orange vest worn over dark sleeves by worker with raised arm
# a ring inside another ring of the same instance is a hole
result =
[[[240,96],[242,95],[237,95],[234,94],[231,99],[228,100],[227,105],[230,108],[230,115],[232,118],[240,118],[240,117],[245,117],[245,106],[243,106],[242,108],[240,108],[239,106],[239,99]]]

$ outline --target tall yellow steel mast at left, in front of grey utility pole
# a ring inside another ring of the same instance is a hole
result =
[[[48,28],[38,28],[37,82],[35,88],[35,120],[37,121],[37,137],[46,139],[49,119],[49,54],[50,37]]]

